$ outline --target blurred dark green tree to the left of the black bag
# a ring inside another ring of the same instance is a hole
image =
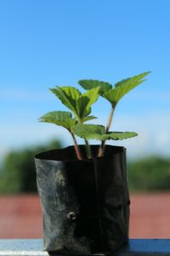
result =
[[[37,191],[34,155],[60,148],[59,141],[44,146],[11,151],[3,160],[0,172],[0,194],[34,193]]]

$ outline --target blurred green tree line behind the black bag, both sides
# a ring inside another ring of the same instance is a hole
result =
[[[0,194],[34,193],[37,191],[34,155],[60,148],[61,143],[11,151],[0,170]],[[127,164],[131,191],[170,190],[170,160],[161,157],[136,160]]]

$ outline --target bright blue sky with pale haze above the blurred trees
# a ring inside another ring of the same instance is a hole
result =
[[[115,84],[151,71],[122,98],[112,130],[137,131],[130,157],[170,155],[169,0],[5,0],[0,2],[0,155],[11,148],[63,138],[67,131],[37,118],[66,110],[48,88],[79,87],[79,79]],[[105,125],[110,105],[94,114]]]

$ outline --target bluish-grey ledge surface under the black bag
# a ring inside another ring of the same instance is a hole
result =
[[[42,251],[42,239],[2,239],[0,256],[48,256]],[[113,256],[170,256],[170,239],[130,239]]]

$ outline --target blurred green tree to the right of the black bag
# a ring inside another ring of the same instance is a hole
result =
[[[133,191],[170,190],[170,160],[150,157],[128,163],[127,169]]]

